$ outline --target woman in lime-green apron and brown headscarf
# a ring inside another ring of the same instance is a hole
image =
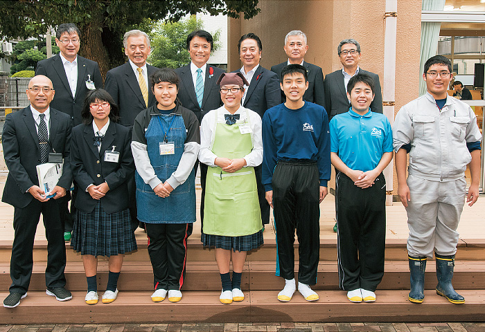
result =
[[[207,113],[200,127],[199,160],[206,177],[202,243],[215,247],[222,293],[220,302],[243,301],[240,282],[246,253],[263,244],[254,168],[263,160],[261,117],[241,106],[241,73],[223,73],[217,82],[224,106]],[[232,280],[229,264],[232,261]]]

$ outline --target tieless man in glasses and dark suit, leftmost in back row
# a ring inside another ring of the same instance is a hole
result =
[[[55,98],[51,107],[67,113],[76,126],[82,122],[81,109],[87,91],[103,87],[103,79],[97,62],[78,55],[80,31],[76,24],[60,24],[55,32],[55,43],[60,53],[49,59],[39,61],[35,75],[46,75],[52,82]],[[68,192],[68,195],[69,192]],[[69,198],[65,200],[69,201]],[[62,206],[61,218],[64,223],[64,240],[71,240],[74,209]]]

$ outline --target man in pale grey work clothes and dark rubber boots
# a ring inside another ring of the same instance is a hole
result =
[[[436,293],[455,304],[465,302],[451,280],[459,239],[457,227],[465,199],[470,206],[478,199],[482,135],[468,104],[448,95],[451,75],[448,58],[436,55],[427,59],[423,73],[427,93],[399,110],[392,130],[398,195],[406,208],[409,227],[408,298],[414,303],[423,302],[426,259],[432,258],[433,252]],[[467,165],[471,174],[468,195]]]

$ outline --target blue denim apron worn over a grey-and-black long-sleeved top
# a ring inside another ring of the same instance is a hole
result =
[[[170,127],[170,124],[171,127]],[[170,128],[168,130],[168,128]],[[175,154],[160,154],[160,143],[173,142]],[[165,183],[179,165],[184,153],[187,134],[180,114],[152,115],[145,131],[148,158],[157,177]],[[138,219],[144,223],[193,223],[195,222],[195,175],[192,169],[187,180],[176,187],[170,196],[162,198],[135,172],[136,208]]]

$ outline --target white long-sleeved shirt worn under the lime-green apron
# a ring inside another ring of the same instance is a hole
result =
[[[207,113],[204,118],[202,118],[202,124],[200,126],[199,160],[201,163],[204,163],[211,167],[216,167],[214,161],[215,158],[218,157],[211,151],[213,139],[215,136],[215,116],[218,117],[218,123],[225,124],[226,120],[224,118],[224,114],[230,114],[224,106],[221,106],[218,109],[213,109],[212,111]],[[245,167],[256,167],[258,165],[261,165],[261,163],[263,162],[261,117],[258,115],[258,113],[251,111],[250,109],[246,109],[243,106],[239,107],[239,109],[234,114],[239,114],[239,120],[236,121],[236,124],[243,124],[244,122],[247,122],[247,114],[249,114],[249,124],[252,131],[253,149],[251,152],[249,152],[249,154],[244,156],[244,159],[246,160]]]

